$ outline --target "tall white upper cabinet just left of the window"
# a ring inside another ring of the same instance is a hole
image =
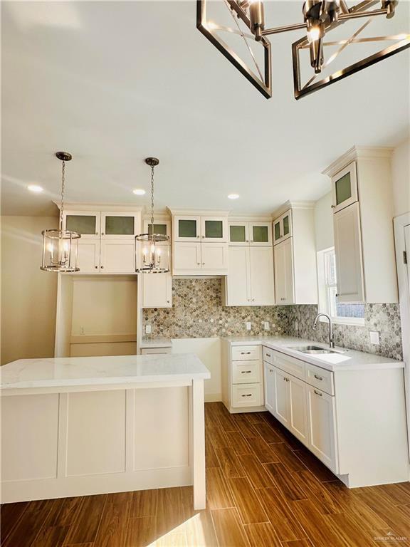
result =
[[[312,202],[286,202],[273,221],[275,301],[317,304],[315,217]]]

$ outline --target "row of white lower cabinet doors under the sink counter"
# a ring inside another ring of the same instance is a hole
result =
[[[266,361],[264,371],[266,409],[337,473],[335,397]]]

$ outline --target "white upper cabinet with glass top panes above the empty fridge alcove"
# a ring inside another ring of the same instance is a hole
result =
[[[81,234],[77,274],[135,273],[135,235],[141,229],[140,211],[67,210],[63,226]]]

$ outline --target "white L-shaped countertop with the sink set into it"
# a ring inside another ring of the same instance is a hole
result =
[[[227,340],[231,345],[266,345],[270,349],[280,351],[286,355],[291,355],[292,357],[305,361],[305,363],[310,363],[333,371],[404,368],[404,363],[401,361],[396,361],[380,355],[373,355],[372,353],[348,350],[346,348],[332,348],[337,353],[325,353],[322,355],[301,353],[300,351],[293,350],[292,346],[317,345],[320,346],[320,348],[328,348],[329,346],[322,342],[315,342],[315,340],[305,340],[293,336],[231,336],[225,337],[223,340]]]

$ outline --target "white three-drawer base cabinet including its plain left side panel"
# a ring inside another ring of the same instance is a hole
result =
[[[261,345],[223,342],[222,401],[229,412],[256,412],[263,406]]]

